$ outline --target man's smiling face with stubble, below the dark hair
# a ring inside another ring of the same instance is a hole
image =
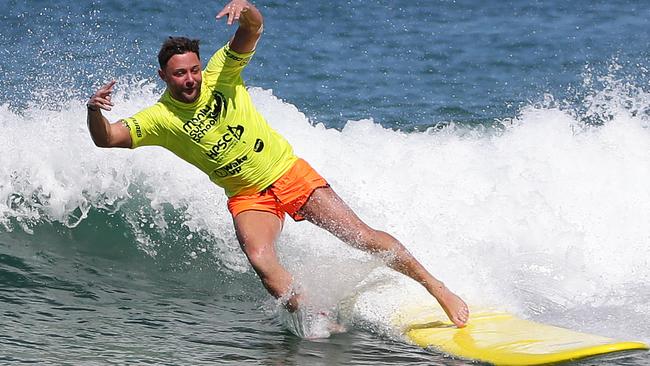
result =
[[[172,56],[158,75],[179,102],[193,103],[201,93],[201,61],[194,52]]]

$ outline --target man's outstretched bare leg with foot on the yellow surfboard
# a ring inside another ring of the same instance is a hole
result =
[[[331,188],[317,188],[298,213],[347,244],[385,255],[388,266],[422,284],[456,326],[462,327],[467,322],[469,310],[460,297],[427,272],[397,239],[361,221]]]

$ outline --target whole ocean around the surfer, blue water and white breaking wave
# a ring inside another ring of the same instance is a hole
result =
[[[348,328],[294,336],[220,188],[163,149],[94,147],[94,89],[118,81],[111,120],[154,103],[161,41],[207,59],[221,5],[0,1],[0,362],[472,364],[401,336],[421,288],[288,220],[281,261]],[[644,2],[257,5],[250,93],[364,220],[473,307],[650,342]]]

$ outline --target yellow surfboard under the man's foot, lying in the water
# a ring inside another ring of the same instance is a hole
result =
[[[460,329],[434,306],[405,310],[395,324],[420,347],[496,365],[541,365],[648,349],[641,342],[621,342],[487,310],[474,310]]]

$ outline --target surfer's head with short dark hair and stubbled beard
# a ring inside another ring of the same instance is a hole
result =
[[[199,97],[202,79],[198,39],[169,37],[160,47],[158,63],[158,75],[174,99],[192,103]]]

